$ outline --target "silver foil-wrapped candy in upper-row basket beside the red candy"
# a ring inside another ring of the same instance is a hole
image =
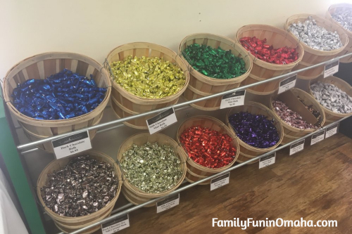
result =
[[[304,22],[292,23],[289,30],[299,41],[319,51],[333,51],[343,46],[337,32],[318,26],[311,16]]]

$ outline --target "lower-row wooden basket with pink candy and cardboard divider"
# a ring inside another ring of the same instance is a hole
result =
[[[313,105],[314,110],[317,110],[318,112],[320,112],[320,115],[322,117],[322,122],[320,124],[323,125],[325,123],[324,110],[322,110],[322,107],[318,103],[318,101],[315,100],[315,98],[313,98],[309,93],[306,93],[305,91],[303,91],[301,89],[296,89],[296,88],[291,89],[287,92],[292,92],[294,94],[294,96],[296,96],[297,98],[301,98],[306,105]],[[272,98],[272,100],[275,100],[275,99],[276,99],[276,97]],[[304,108],[303,103],[301,103],[301,107]],[[269,108],[270,108],[270,110],[272,110],[274,115],[278,119],[280,119],[279,115],[277,115],[277,112],[275,111],[274,106],[272,105],[272,101],[270,101]],[[316,130],[316,129],[298,129],[294,126],[290,126],[289,124],[287,124],[287,122],[284,122],[284,120],[282,120],[282,119],[280,119],[280,122],[284,128],[284,138],[282,139],[282,143],[289,143],[290,141],[293,141],[292,139],[296,139],[301,136],[306,136],[307,134],[310,134]],[[287,136],[291,136],[294,138],[288,138]]]

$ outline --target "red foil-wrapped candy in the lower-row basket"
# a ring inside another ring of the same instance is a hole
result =
[[[203,126],[191,126],[184,130],[180,142],[191,160],[203,167],[225,167],[236,156],[236,148],[229,135]]]

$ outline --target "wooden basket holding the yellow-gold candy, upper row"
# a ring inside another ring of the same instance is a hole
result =
[[[113,82],[113,91],[112,91],[112,100],[111,105],[115,114],[119,117],[127,117],[130,115],[136,115],[151,110],[156,110],[160,108],[165,108],[170,105],[177,103],[178,98],[186,90],[189,83],[189,72],[187,66],[183,63],[180,56],[177,56],[177,53],[159,46],[156,44],[146,43],[146,42],[134,42],[130,44],[125,44],[114,48],[110,53],[108,53],[107,60],[108,64],[111,65],[113,62],[124,60],[128,56],[137,56],[137,57],[158,57],[163,58],[165,61],[170,61],[171,63],[176,64],[184,72],[186,77],[186,82],[183,88],[172,96],[165,98],[140,98],[134,94],[125,91],[121,86]],[[118,105],[120,104],[120,105]],[[122,108],[123,107],[123,108]],[[150,119],[153,115],[144,117],[142,120],[136,120],[134,122],[127,122],[128,126],[131,126],[136,129],[148,129],[145,119]]]

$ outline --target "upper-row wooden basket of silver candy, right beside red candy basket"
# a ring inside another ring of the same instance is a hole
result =
[[[325,29],[329,31],[333,31],[333,32],[337,31],[337,33],[340,36],[341,42],[344,46],[334,51],[318,51],[316,49],[310,48],[309,46],[301,42],[300,44],[304,48],[304,56],[303,56],[303,59],[301,60],[301,63],[299,63],[299,65],[295,67],[294,70],[303,69],[305,67],[309,67],[311,65],[322,63],[332,58],[335,58],[341,51],[344,51],[344,48],[348,44],[348,37],[344,32],[344,30],[342,30],[341,27],[339,27],[339,25],[327,19],[320,18],[317,15],[312,15],[312,14],[292,15],[286,20],[284,24],[285,30],[289,31],[289,25],[291,25],[294,22],[298,22],[298,21],[304,22],[304,20],[306,20],[308,16],[311,16],[313,19],[315,19],[318,26],[325,27]],[[294,34],[292,34],[291,32],[289,32],[289,34],[291,34],[294,37]],[[324,66],[315,67],[305,72],[299,72],[298,78],[315,79],[319,77],[323,71],[324,71]]]

